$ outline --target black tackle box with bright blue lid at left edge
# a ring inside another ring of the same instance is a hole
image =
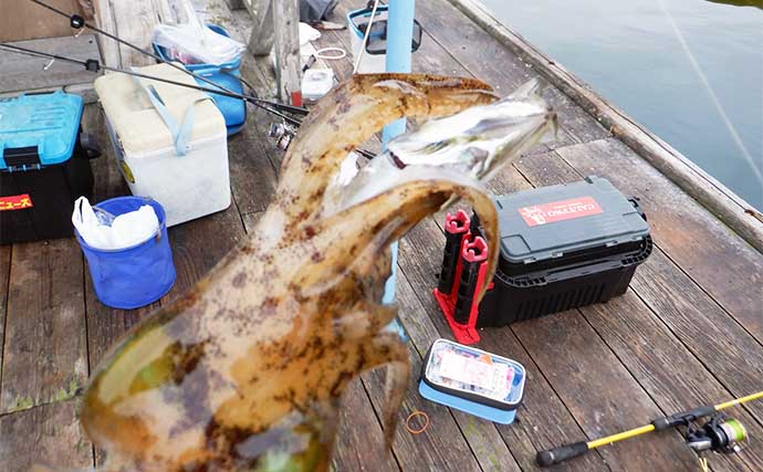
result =
[[[80,132],[82,109],[63,92],[0,99],[0,244],[73,234],[74,200],[92,198],[98,155]]]

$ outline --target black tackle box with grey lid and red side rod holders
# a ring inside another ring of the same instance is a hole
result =
[[[460,342],[474,328],[607,302],[628,287],[652,243],[646,216],[608,180],[501,196],[495,200],[501,255],[479,306],[487,243],[477,214],[448,214],[447,248],[436,296]]]

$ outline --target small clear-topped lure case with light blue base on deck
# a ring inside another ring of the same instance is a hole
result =
[[[419,394],[436,403],[510,424],[522,402],[525,378],[520,363],[437,339],[421,368]]]

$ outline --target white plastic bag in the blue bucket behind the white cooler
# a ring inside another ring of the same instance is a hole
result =
[[[167,51],[170,60],[184,64],[215,64],[237,60],[245,46],[201,23],[189,0],[181,2],[188,23],[158,24],[154,29],[153,42]]]

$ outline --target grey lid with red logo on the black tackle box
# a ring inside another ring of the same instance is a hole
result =
[[[501,256],[512,264],[613,248],[649,235],[638,208],[598,177],[501,196],[497,209]]]

